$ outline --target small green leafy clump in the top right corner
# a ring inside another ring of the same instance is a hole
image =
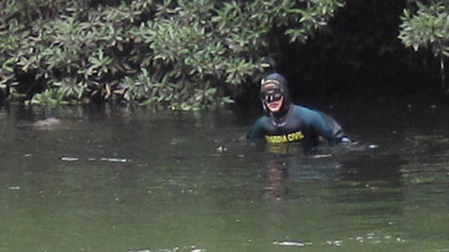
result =
[[[433,0],[424,5],[415,1],[415,4],[416,13],[404,10],[398,37],[415,51],[432,46],[435,56],[449,57],[449,2]]]

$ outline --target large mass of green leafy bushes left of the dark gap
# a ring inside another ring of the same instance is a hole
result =
[[[343,0],[4,0],[0,90],[47,90],[30,104],[219,106],[270,67],[281,36],[304,43],[342,6]]]

